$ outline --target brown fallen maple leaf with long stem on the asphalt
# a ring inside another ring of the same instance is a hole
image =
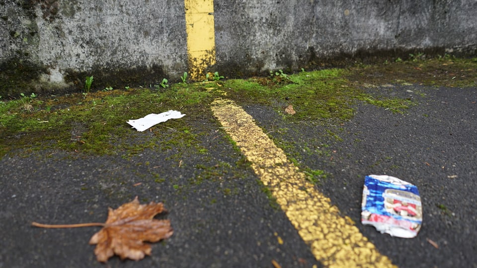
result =
[[[162,211],[166,211],[162,203],[140,204],[136,197],[117,209],[109,208],[105,223],[49,225],[33,222],[32,225],[44,228],[103,226],[89,240],[89,244],[96,245],[94,254],[97,260],[106,262],[116,254],[121,259],[138,261],[145,255],[151,255],[151,245],[144,242],[158,242],[173,233],[169,220],[154,219]]]

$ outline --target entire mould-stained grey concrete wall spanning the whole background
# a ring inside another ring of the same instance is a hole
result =
[[[213,16],[215,61],[197,70],[185,13],[211,3],[203,16]],[[149,86],[184,71],[237,76],[409,51],[475,55],[476,14],[476,0],[0,0],[0,95],[78,91],[86,75],[95,88]]]

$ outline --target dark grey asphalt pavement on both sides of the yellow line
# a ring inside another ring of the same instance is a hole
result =
[[[477,88],[386,85],[366,91],[417,105],[399,114],[358,103],[348,122],[300,124],[285,121],[269,106],[243,108],[279,147],[295,144],[282,147],[301,166],[327,172],[317,189],[395,265],[477,267]],[[55,149],[2,157],[0,268],[272,268],[272,261],[284,268],[321,267],[219,123],[200,114],[181,120],[202,133],[197,138],[206,154],[158,144],[130,158]],[[131,136],[137,144],[150,138],[134,130]],[[417,237],[395,238],[361,225],[369,174],[418,187],[423,224]],[[164,202],[169,211],[160,217],[170,219],[174,229],[139,262],[114,257],[107,265],[98,263],[88,241],[99,227],[30,226],[103,222],[108,206],[135,196]]]

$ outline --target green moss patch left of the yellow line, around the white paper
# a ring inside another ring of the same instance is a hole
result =
[[[160,131],[165,134],[159,135],[158,129],[152,128],[141,146],[130,142],[139,136],[126,123],[170,109],[195,113],[200,108],[198,103],[209,94],[196,86],[193,92],[188,90],[185,86],[165,92],[138,88],[5,102],[0,104],[0,154],[38,146],[95,154],[135,154],[164,139],[190,145],[194,135],[181,119],[164,123]],[[31,110],[25,109],[25,101]],[[170,130],[174,130],[173,140],[168,137],[172,136]]]

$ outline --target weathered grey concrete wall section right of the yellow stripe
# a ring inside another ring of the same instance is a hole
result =
[[[475,0],[216,0],[218,69],[294,70],[410,51],[475,54],[476,12]]]

